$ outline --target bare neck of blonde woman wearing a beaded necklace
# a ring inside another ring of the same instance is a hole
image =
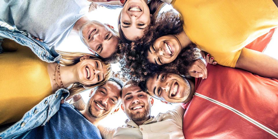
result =
[[[77,71],[73,66],[60,66],[60,75],[64,87],[69,87],[73,83],[77,83]]]

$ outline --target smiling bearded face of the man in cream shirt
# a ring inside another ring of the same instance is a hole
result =
[[[122,109],[133,121],[148,120],[153,100],[138,86],[126,85],[122,89]]]

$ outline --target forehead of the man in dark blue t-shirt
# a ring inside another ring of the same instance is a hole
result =
[[[105,84],[101,85],[100,88],[107,89],[108,95],[120,96],[121,87],[113,81],[107,81]]]

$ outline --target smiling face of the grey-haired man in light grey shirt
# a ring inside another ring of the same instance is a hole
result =
[[[98,21],[88,21],[79,32],[81,41],[91,52],[108,58],[118,47],[118,37],[106,25]]]

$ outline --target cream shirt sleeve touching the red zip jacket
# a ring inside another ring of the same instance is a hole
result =
[[[173,110],[167,111],[168,114],[175,120],[179,126],[182,128],[183,116],[185,109],[181,105],[177,105]]]

